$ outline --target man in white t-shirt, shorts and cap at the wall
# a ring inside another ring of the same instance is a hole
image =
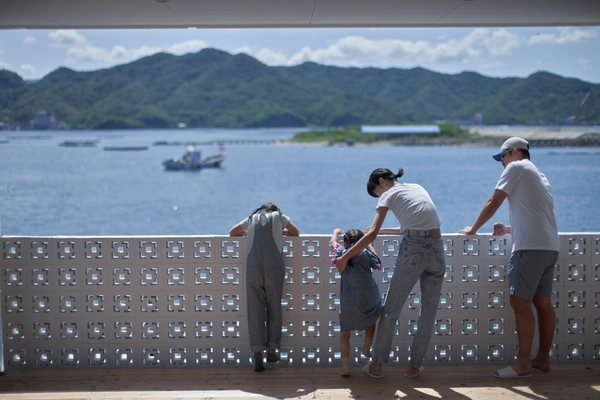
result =
[[[473,226],[459,233],[476,234],[508,198],[510,226],[494,224],[494,235],[511,234],[512,237],[508,280],[519,352],[513,365],[496,371],[494,376],[528,378],[532,370],[550,371],[549,353],[556,325],[551,296],[560,241],[552,187],[542,171],[529,160],[529,143],[525,139],[512,137],[506,140],[492,157],[502,162],[504,172]],[[532,304],[537,311],[539,329],[539,347],[533,359],[530,358],[535,334]]]

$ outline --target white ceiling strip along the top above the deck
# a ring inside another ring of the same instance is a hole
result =
[[[0,0],[0,29],[600,25],[600,0]]]

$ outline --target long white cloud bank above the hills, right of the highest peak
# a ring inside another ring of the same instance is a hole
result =
[[[297,65],[306,61],[319,64],[347,66],[395,66],[418,63],[469,63],[473,61],[497,65],[499,57],[506,57],[521,46],[517,35],[505,29],[474,29],[461,38],[439,36],[437,41],[404,39],[369,39],[347,36],[327,47],[304,47],[286,57],[281,52],[263,48],[245,52],[269,65]]]

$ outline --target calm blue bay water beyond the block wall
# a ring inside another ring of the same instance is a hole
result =
[[[2,235],[221,235],[266,201],[277,203],[303,234],[364,228],[376,199],[365,190],[377,167],[404,168],[405,182],[431,194],[442,232],[475,220],[502,173],[489,147],[320,146],[227,144],[221,168],[165,171],[162,161],[186,146],[156,141],[207,142],[286,139],[290,129],[2,132]],[[37,140],[11,137],[41,135]],[[99,139],[96,147],[59,146]],[[104,146],[149,146],[104,151]],[[202,146],[203,155],[217,145]],[[600,150],[532,149],[532,161],[554,189],[561,232],[599,232]],[[508,223],[507,205],[495,221]],[[384,226],[397,226],[388,215]]]

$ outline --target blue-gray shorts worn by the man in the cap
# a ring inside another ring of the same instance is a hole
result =
[[[508,260],[510,295],[532,300],[534,296],[552,296],[554,265],[558,251],[518,250]]]

